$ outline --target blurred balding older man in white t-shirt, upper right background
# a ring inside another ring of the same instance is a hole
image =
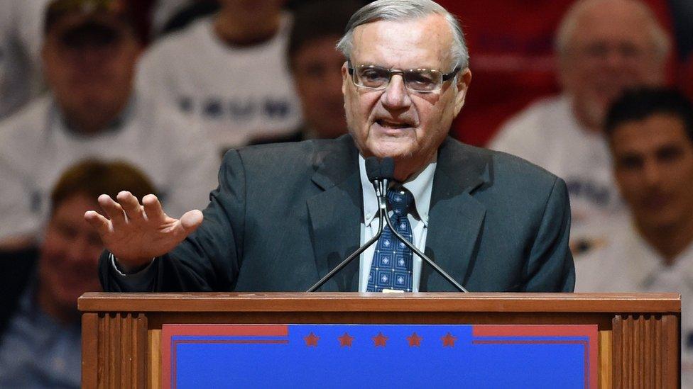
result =
[[[640,1],[577,1],[556,37],[563,93],[518,113],[489,145],[566,181],[576,252],[599,237],[585,225],[623,212],[601,135],[606,109],[628,86],[661,84],[669,47],[664,30]]]

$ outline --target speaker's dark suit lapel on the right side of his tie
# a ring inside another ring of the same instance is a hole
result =
[[[491,161],[448,138],[438,151],[426,237],[427,256],[465,286],[474,269],[486,208],[471,192],[489,181]],[[420,291],[457,291],[423,264]]]

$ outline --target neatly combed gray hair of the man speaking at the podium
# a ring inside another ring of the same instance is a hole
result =
[[[455,67],[469,67],[469,51],[464,43],[462,26],[452,13],[432,0],[377,0],[356,11],[346,25],[346,33],[337,43],[344,57],[351,57],[354,47],[354,29],[374,21],[405,21],[430,15],[442,15],[452,30],[452,60]]]

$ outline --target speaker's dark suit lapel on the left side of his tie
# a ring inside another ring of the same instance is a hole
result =
[[[351,137],[340,138],[337,147],[320,154],[315,169],[312,181],[322,192],[308,198],[307,206],[315,264],[322,278],[361,241],[363,196],[358,152]],[[359,272],[359,259],[339,271],[320,291],[356,291],[358,277],[354,272]]]

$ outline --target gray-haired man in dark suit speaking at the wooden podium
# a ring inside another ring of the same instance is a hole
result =
[[[207,208],[99,197],[106,291],[305,291],[378,232],[364,159],[392,157],[388,211],[469,291],[572,291],[564,181],[447,137],[471,81],[459,23],[430,0],[378,0],[337,46],[349,135],[227,152]],[[454,291],[386,227],[321,291]]]

